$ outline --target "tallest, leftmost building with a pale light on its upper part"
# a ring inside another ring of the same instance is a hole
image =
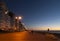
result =
[[[4,2],[0,2],[0,29],[8,30],[10,28],[10,17],[8,16],[8,9]]]

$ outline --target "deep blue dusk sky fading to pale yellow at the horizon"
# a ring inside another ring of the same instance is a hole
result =
[[[60,0],[5,0],[10,11],[23,16],[27,28],[60,27]]]

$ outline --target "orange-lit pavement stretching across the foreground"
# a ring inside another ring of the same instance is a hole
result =
[[[0,41],[60,41],[53,34],[36,32],[0,33]]]

